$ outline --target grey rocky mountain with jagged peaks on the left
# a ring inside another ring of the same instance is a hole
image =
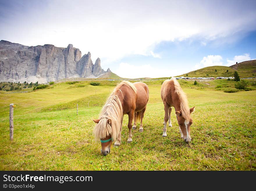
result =
[[[90,52],[81,57],[81,51],[72,44],[67,48],[52,44],[29,47],[0,41],[1,82],[47,83],[72,77],[97,78],[109,71],[101,68],[99,58],[93,64]]]

